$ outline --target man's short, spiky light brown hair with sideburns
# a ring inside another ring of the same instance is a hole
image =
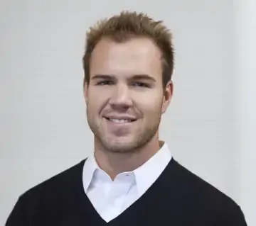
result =
[[[174,70],[174,47],[172,34],[162,21],[154,21],[144,13],[122,11],[119,15],[98,21],[87,32],[85,55],[82,64],[85,72],[84,84],[90,82],[90,57],[102,38],[110,38],[122,43],[130,38],[148,37],[154,41],[162,53],[162,81],[165,87]]]

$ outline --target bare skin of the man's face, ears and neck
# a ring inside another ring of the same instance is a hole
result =
[[[161,51],[149,38],[124,43],[104,38],[97,43],[84,96],[95,159],[112,180],[158,152],[159,123],[172,94],[171,81],[163,89]],[[135,121],[114,123],[106,117]]]

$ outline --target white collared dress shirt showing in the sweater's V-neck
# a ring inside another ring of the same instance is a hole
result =
[[[97,165],[92,154],[85,161],[82,172],[85,193],[102,219],[110,222],[146,192],[170,160],[171,152],[164,143],[142,166],[134,171],[118,174],[112,181]]]

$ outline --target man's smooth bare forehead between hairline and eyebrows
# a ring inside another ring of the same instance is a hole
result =
[[[124,43],[102,39],[92,52],[90,74],[161,74],[161,51],[149,38],[132,38]],[[157,79],[157,78],[156,78]]]

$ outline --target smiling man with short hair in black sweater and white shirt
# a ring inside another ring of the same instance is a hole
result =
[[[83,89],[94,154],[24,193],[6,225],[246,225],[233,200],[159,140],[174,90],[171,42],[143,13],[90,28]]]

